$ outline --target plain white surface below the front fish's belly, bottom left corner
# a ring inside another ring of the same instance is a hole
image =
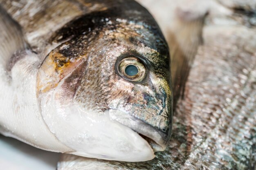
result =
[[[59,157],[0,135],[0,170],[56,170]]]

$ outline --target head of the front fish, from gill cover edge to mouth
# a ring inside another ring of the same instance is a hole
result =
[[[168,46],[158,28],[141,23],[95,28],[48,54],[37,97],[45,123],[72,154],[153,159],[171,137]]]

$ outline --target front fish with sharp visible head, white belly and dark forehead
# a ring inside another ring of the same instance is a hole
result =
[[[134,0],[0,0],[0,133],[148,161],[172,134],[168,44]]]

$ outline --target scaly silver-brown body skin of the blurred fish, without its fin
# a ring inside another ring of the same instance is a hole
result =
[[[191,65],[184,98],[177,102],[166,151],[143,163],[63,154],[58,170],[255,170],[256,27],[248,20],[255,16],[212,2],[204,44]],[[256,5],[229,2],[236,8]]]

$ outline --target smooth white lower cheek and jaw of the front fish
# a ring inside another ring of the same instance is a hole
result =
[[[75,150],[68,153],[129,162],[155,157],[148,142],[129,127],[112,121],[108,110],[100,113],[72,102],[61,103],[54,98],[58,88],[44,95],[40,96],[43,119],[58,141]]]

